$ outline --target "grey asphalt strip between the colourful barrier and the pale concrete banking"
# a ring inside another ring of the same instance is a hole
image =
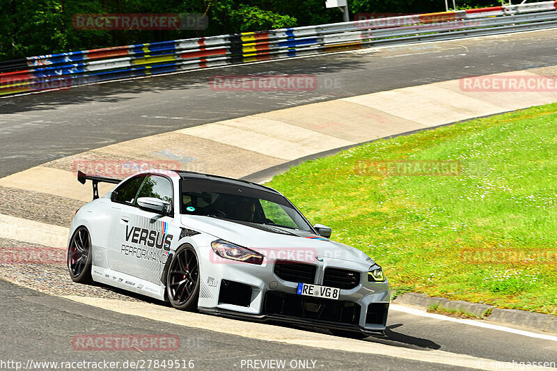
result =
[[[557,65],[557,31],[350,52],[0,99],[0,177],[112,143],[300,104]],[[306,92],[216,91],[223,74],[311,74]],[[400,102],[404,104],[404,102]]]

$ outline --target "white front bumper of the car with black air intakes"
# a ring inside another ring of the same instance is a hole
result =
[[[201,274],[199,310],[205,313],[242,317],[258,321],[277,320],[327,329],[382,333],[389,310],[389,283],[369,282],[369,265],[347,260],[324,258],[315,261],[313,284],[323,283],[327,268],[359,273],[356,287],[341,289],[338,300],[320,299],[297,294],[298,281],[282,279],[274,263],[252,265],[222,260],[215,264],[214,254]],[[203,267],[203,265],[202,265]],[[332,287],[332,286],[331,286]]]

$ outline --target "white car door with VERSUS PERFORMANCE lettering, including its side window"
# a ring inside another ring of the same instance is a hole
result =
[[[168,210],[164,214],[143,210],[137,206],[137,200],[142,197],[164,200],[169,204]],[[170,178],[157,174],[145,177],[134,204],[130,207],[130,213],[123,209],[120,216],[123,223],[116,224],[118,231],[115,236],[120,244],[120,271],[161,284],[162,271],[170,255],[171,244],[178,242],[180,236],[180,228],[173,230],[173,199]]]

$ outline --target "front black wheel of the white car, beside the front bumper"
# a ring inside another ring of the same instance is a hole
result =
[[[166,273],[166,297],[176,309],[196,310],[199,299],[199,260],[191,245],[178,248]]]

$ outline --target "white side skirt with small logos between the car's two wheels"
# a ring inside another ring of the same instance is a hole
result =
[[[91,267],[93,281],[164,301],[165,287],[111,269]]]

